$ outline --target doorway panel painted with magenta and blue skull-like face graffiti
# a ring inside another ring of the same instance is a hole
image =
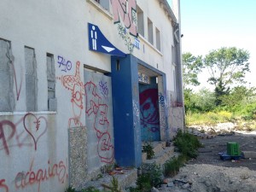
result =
[[[140,120],[143,142],[160,141],[160,114],[157,84],[140,84]]]

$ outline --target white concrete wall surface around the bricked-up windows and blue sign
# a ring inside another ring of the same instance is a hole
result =
[[[129,3],[132,7],[135,0]],[[150,3],[137,0],[137,4],[143,9],[145,20],[149,17],[154,27],[160,30],[161,51],[154,48],[155,44],[152,47],[140,38],[141,49],[134,48],[132,54],[153,67],[158,64],[158,69],[166,73],[167,90],[170,90],[171,21],[157,0]],[[116,6],[110,5],[113,7]],[[111,13],[116,12],[111,9],[109,15],[108,11],[99,9],[94,0],[0,1],[0,38],[11,42],[15,57],[14,113],[0,112],[1,192],[61,192],[67,188],[68,129],[86,125],[83,65],[111,71],[110,55],[89,50],[88,22],[99,26],[118,49],[130,53],[124,37],[119,35],[118,24],[113,24],[116,18]],[[121,24],[125,22],[121,20]],[[125,37],[133,43],[133,36]],[[38,112],[26,112],[25,46],[35,49]],[[55,59],[55,112],[47,111],[47,53]],[[61,58],[66,63],[70,61],[72,66],[60,65]]]

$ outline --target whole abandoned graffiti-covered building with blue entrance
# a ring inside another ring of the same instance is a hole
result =
[[[178,1],[0,2],[0,191],[64,191],[183,128]],[[174,15],[173,13],[177,13]]]

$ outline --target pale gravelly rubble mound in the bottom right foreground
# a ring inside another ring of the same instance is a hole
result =
[[[196,174],[191,174],[194,172]],[[200,177],[198,177],[200,175]],[[172,188],[167,186],[159,190],[165,191],[255,191],[256,172],[247,167],[230,168],[212,165],[187,165],[184,166],[176,177],[169,183],[174,183]]]

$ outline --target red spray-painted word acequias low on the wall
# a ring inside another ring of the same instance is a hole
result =
[[[67,180],[67,166],[61,160],[59,163],[51,164],[48,160],[48,168],[33,170],[33,160],[30,169],[26,172],[18,172],[15,177],[16,189],[25,189],[33,184],[38,185],[40,191],[41,183],[46,182],[49,178],[56,177],[59,183],[65,183]]]

